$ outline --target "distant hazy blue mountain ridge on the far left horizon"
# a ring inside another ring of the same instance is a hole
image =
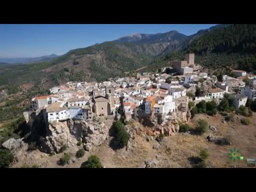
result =
[[[44,61],[51,61],[53,59],[58,58],[59,55],[51,54],[45,55],[42,57],[37,58],[0,58],[0,66],[4,65],[19,65],[24,63],[32,63],[32,62],[44,62]]]

